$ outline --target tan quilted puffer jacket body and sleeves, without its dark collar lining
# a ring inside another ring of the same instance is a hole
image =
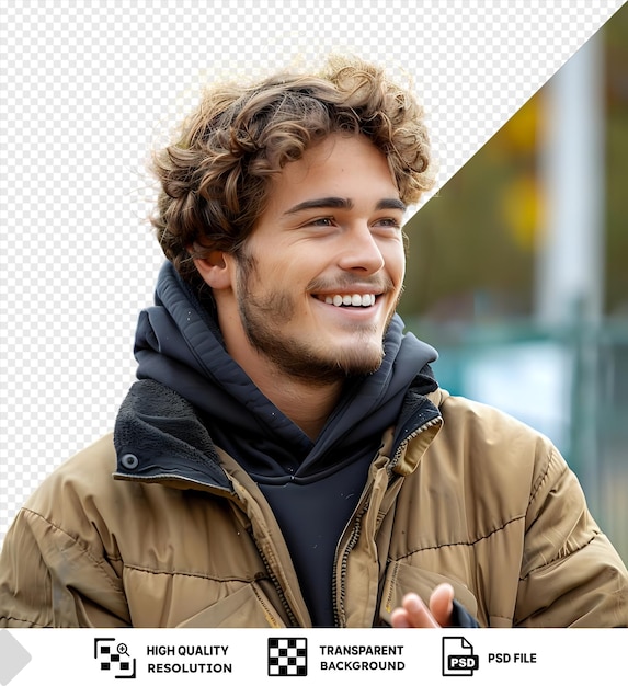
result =
[[[628,626],[628,573],[547,438],[438,390],[442,413],[373,461],[338,547],[338,626],[389,622],[442,581],[480,626]],[[31,496],[0,558],[0,626],[310,626],[269,505],[229,487],[112,478],[112,436]]]

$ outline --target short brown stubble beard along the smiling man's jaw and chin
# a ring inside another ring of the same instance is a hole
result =
[[[256,278],[255,262],[242,256],[238,266],[238,307],[240,320],[251,345],[269,359],[277,371],[327,386],[351,376],[364,376],[379,369],[384,359],[384,341],[375,340],[376,324],[355,327],[351,346],[326,350],[316,341],[286,338],[282,328],[295,316],[296,301],[286,293],[271,291],[253,296],[251,283]],[[385,330],[390,323],[390,315]]]

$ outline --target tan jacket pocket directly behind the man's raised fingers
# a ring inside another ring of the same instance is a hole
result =
[[[379,607],[380,620],[390,624],[390,613],[396,607],[401,606],[401,601],[407,593],[416,593],[427,605],[432,591],[442,583],[450,584],[454,587],[454,598],[464,606],[469,615],[478,616],[476,596],[459,581],[403,562],[391,562],[384,580],[384,592]]]

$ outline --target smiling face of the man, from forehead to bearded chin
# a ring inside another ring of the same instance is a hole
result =
[[[363,136],[331,136],[288,163],[243,253],[226,256],[232,298],[218,310],[237,362],[319,384],[377,369],[403,282],[403,210]]]

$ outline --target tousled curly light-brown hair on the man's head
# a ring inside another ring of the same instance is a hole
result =
[[[201,287],[193,259],[209,250],[238,254],[265,208],[272,176],[344,132],[381,150],[406,204],[433,186],[423,108],[375,65],[332,56],[313,76],[208,89],[176,142],[152,159],[160,190],[150,221],[165,256]]]

